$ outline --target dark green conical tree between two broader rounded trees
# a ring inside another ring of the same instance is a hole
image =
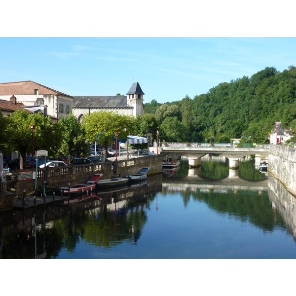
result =
[[[59,156],[86,156],[89,152],[89,142],[85,139],[82,124],[73,113],[68,118],[62,117],[58,124],[63,130],[63,140],[59,148]]]

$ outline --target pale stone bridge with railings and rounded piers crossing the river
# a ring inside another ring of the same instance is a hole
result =
[[[184,147],[182,143],[168,143],[162,147],[162,153],[181,154],[188,157],[189,165],[193,167],[200,166],[200,158],[207,154],[219,154],[229,159],[229,168],[238,168],[239,159],[247,155],[257,155],[261,158],[267,158],[269,146],[267,144],[257,144],[253,148],[237,148],[233,145],[224,145],[220,147],[204,147],[198,144],[190,144],[190,147]]]

